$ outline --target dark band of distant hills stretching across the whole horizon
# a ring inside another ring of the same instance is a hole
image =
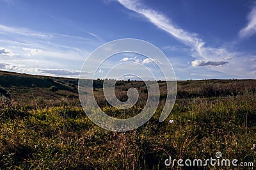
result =
[[[104,80],[93,81],[93,91],[96,95],[103,94]],[[161,92],[161,97],[166,97],[166,81],[157,81]],[[56,86],[58,91],[51,91],[49,88]],[[1,94],[8,93],[15,100],[28,100],[30,98],[78,98],[78,79],[64,77],[50,77],[43,75],[29,75],[26,73],[14,73],[0,71],[0,88],[3,87]],[[177,97],[220,97],[232,95],[244,95],[256,93],[255,79],[205,79],[177,81]],[[147,93],[147,87],[143,81],[117,81],[115,91],[118,95],[127,98],[129,88],[136,88],[140,93]],[[124,98],[125,98],[124,97]],[[126,99],[125,98],[125,99]]]

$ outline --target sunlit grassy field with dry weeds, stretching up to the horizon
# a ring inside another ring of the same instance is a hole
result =
[[[131,87],[140,93],[127,111],[108,105],[102,82],[95,81],[94,92],[107,114],[134,116],[145,106],[143,82],[116,84],[120,100],[127,100]],[[162,123],[166,83],[159,81],[156,113],[129,132],[111,132],[90,121],[80,105],[76,79],[0,72],[0,85],[0,169],[253,169],[164,165],[170,156],[206,160],[216,158],[218,151],[222,158],[256,165],[255,80],[178,81],[177,100]]]

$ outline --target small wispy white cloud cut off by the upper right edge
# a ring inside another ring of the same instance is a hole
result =
[[[239,36],[246,38],[252,36],[256,33],[256,3],[252,8],[252,11],[247,16],[248,23],[243,29],[239,32]]]

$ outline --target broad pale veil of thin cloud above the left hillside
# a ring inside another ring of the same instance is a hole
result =
[[[0,24],[1,69],[78,77],[79,71],[70,69],[80,70],[86,56],[99,44],[101,42],[95,38],[41,33],[27,28]],[[6,56],[12,58],[6,58]],[[54,70],[45,70],[45,66]]]

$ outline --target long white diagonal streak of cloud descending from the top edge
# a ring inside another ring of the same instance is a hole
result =
[[[140,1],[131,0],[117,0],[120,4],[125,6],[125,8],[132,10],[136,13],[140,13],[143,17],[148,19],[152,24],[159,27],[160,29],[166,31],[170,35],[174,36],[180,42],[191,47],[194,51],[194,57],[198,59],[206,60],[221,60],[227,55],[230,56],[231,53],[225,48],[212,48],[205,47],[205,42],[196,33],[189,33],[185,29],[179,26],[175,26],[172,20],[163,15],[161,12],[147,8],[145,5],[141,4]],[[165,47],[170,49],[170,47]],[[171,48],[171,50],[173,50]]]

